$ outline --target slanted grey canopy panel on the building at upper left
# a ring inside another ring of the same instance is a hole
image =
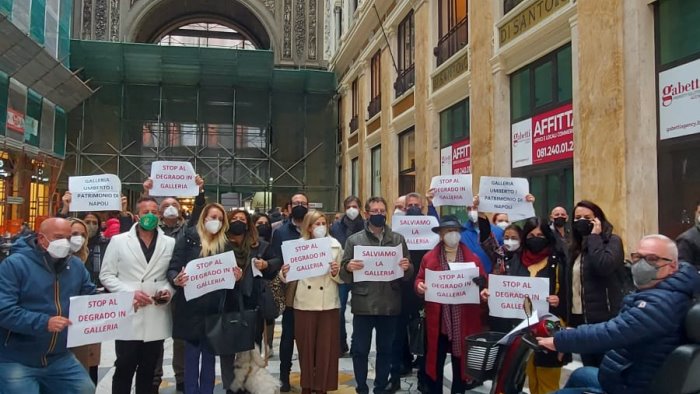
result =
[[[0,14],[0,70],[69,111],[93,90]]]

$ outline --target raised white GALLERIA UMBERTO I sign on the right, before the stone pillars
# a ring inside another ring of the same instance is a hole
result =
[[[482,176],[479,182],[479,211],[507,213],[511,220],[535,216],[531,202],[525,201],[530,185],[525,178]]]

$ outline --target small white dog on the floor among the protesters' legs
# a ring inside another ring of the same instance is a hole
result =
[[[233,364],[234,379],[231,390],[250,394],[279,394],[282,383],[265,368],[265,360],[258,349],[236,354]]]

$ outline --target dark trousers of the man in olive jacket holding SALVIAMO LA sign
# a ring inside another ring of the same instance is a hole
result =
[[[352,369],[355,372],[357,392],[369,393],[367,364],[372,346],[372,330],[376,330],[377,362],[375,365],[374,392],[383,392],[389,383],[391,369],[391,345],[394,342],[396,316],[355,315],[352,319]]]

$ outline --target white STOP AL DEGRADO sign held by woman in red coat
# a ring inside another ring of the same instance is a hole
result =
[[[479,286],[472,280],[477,276],[478,268],[458,271],[425,270],[425,300],[438,304],[478,304]]]

